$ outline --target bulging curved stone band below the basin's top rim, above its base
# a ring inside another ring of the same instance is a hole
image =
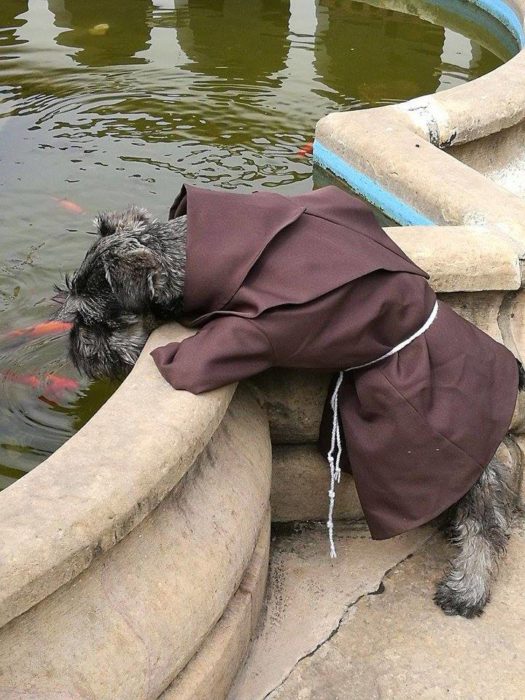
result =
[[[158,697],[239,588],[267,528],[270,472],[267,423],[242,389],[157,508],[0,630],[0,696]]]

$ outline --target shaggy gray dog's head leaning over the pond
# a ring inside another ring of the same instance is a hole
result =
[[[72,323],[69,352],[78,370],[93,379],[122,378],[151,331],[176,318],[185,260],[174,265],[173,250],[163,254],[170,237],[174,245],[173,223],[159,224],[144,209],[102,214],[95,225],[97,240],[65,287],[56,288],[55,318]]]

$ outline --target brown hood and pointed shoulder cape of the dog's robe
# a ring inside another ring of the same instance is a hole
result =
[[[375,270],[428,278],[369,207],[338,187],[284,197],[185,185],[170,209],[170,218],[181,215],[188,227],[184,312],[194,325],[230,302],[270,246],[276,254],[266,256],[272,269],[264,276],[271,284],[259,290],[252,315],[303,304]]]

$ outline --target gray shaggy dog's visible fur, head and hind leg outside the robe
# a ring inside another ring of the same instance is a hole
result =
[[[144,209],[103,214],[80,268],[57,288],[57,318],[73,323],[70,356],[91,378],[124,377],[148,335],[182,315],[186,217],[159,223]],[[523,375],[521,374],[521,377]],[[520,380],[520,389],[522,381]],[[480,615],[490,597],[517,503],[509,469],[493,459],[448,513],[457,554],[437,586],[448,615]]]

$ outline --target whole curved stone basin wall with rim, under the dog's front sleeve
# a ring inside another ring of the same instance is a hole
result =
[[[148,350],[0,494],[1,700],[225,697],[263,602],[268,423],[245,388],[176,392]],[[232,398],[233,397],[233,398]]]

